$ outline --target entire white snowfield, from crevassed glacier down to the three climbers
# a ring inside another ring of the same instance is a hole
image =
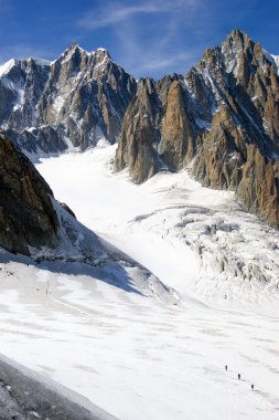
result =
[[[278,232],[185,171],[136,186],[114,155],[103,141],[36,167],[132,260],[2,251],[0,351],[121,420],[279,419]]]

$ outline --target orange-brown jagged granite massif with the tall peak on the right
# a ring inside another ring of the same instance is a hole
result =
[[[189,167],[279,227],[278,82],[273,56],[238,30],[184,77],[141,81],[124,117],[116,170],[128,166],[142,181],[162,168]],[[142,95],[147,83],[152,88]]]

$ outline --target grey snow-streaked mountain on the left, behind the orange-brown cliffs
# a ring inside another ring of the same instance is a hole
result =
[[[10,60],[0,69],[0,128],[21,149],[85,149],[119,138],[136,81],[104,49],[71,45],[57,60]]]

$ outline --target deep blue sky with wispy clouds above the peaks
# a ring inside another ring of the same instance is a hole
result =
[[[0,62],[106,48],[136,77],[185,73],[235,28],[279,54],[278,0],[0,0]]]

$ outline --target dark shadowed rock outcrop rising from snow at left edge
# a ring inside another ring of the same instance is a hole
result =
[[[0,245],[30,254],[29,246],[58,244],[52,190],[13,143],[0,137]]]

